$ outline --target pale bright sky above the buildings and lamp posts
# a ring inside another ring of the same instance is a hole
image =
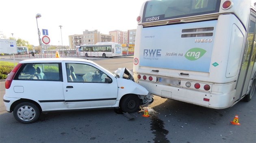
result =
[[[69,45],[68,36],[98,29],[102,34],[136,29],[136,18],[146,0],[1,0],[0,34],[39,45],[38,27],[48,29],[51,45]],[[42,17],[36,21],[35,16]],[[59,25],[62,25],[60,29]]]

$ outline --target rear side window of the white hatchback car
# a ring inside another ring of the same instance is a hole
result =
[[[60,63],[28,63],[17,80],[61,81],[60,66]]]

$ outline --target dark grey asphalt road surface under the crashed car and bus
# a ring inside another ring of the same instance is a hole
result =
[[[132,58],[93,59],[110,71],[132,69]],[[4,95],[0,82],[0,98]],[[155,96],[148,107],[126,118],[114,109],[51,112],[33,124],[17,122],[0,100],[1,143],[255,143],[256,95],[227,109],[208,109]],[[240,126],[230,124],[239,116]]]

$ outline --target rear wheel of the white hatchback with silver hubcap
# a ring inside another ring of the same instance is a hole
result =
[[[40,111],[37,105],[30,102],[23,102],[15,106],[13,116],[18,122],[29,124],[37,121]]]

